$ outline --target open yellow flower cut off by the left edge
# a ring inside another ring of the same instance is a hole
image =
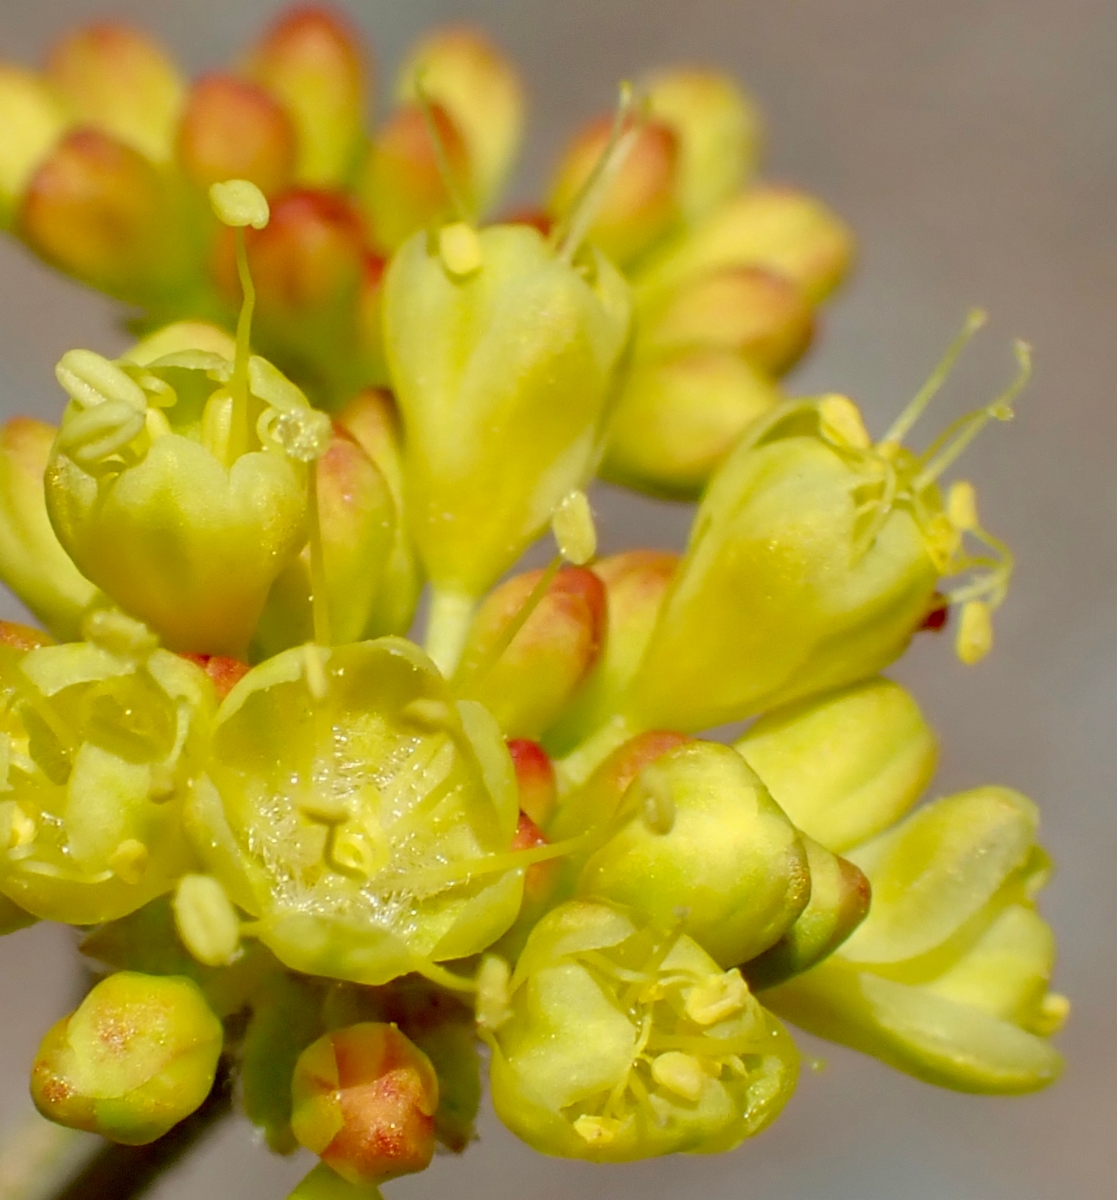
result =
[[[95,641],[0,648],[0,890],[78,925],[139,908],[188,869],[182,799],[215,707],[204,673],[137,623],[100,612],[86,630]]]

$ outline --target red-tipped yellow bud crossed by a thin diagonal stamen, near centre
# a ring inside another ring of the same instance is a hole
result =
[[[462,686],[506,736],[538,738],[570,703],[601,650],[605,588],[593,571],[563,568],[523,626],[508,630],[542,578],[508,580],[478,611],[460,668]]]

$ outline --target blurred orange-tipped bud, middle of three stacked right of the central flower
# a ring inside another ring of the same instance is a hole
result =
[[[806,349],[811,325],[811,306],[786,276],[731,266],[687,282],[643,313],[637,353],[731,350],[780,373]]]

